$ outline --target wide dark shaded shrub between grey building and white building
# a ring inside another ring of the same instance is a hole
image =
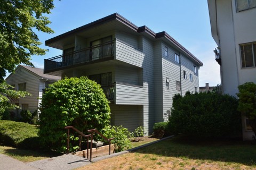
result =
[[[198,137],[229,137],[241,134],[241,115],[235,97],[212,93],[173,97],[169,118],[175,133]]]

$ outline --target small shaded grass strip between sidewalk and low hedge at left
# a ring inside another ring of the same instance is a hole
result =
[[[39,150],[25,150],[6,146],[0,146],[0,154],[8,155],[22,162],[33,162],[40,159],[46,159],[54,156],[59,156],[55,152],[44,152]]]

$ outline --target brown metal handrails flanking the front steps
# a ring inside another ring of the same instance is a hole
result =
[[[98,133],[100,135],[100,137],[102,137],[104,140],[106,140],[108,142],[108,155],[110,155],[110,145],[111,145],[111,140],[115,139],[115,138],[106,138],[103,134],[101,134],[97,129],[91,129],[91,130],[87,130],[87,132],[91,133],[91,134],[84,134],[81,131],[77,130],[76,128],[74,128],[73,126],[66,126],[64,129],[68,130],[68,138],[67,138],[67,154],[69,154],[69,129],[73,129],[74,131],[76,131],[77,133],[79,133],[82,137],[87,138],[87,153],[86,153],[86,157],[88,159],[89,157],[89,137],[91,137],[91,142],[90,142],[90,161],[92,160],[92,141],[93,141],[93,133]],[[80,149],[81,149],[81,143],[80,143]]]

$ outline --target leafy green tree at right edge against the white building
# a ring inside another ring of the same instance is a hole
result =
[[[246,82],[238,86],[239,105],[238,111],[249,118],[250,126],[256,134],[256,84]]]

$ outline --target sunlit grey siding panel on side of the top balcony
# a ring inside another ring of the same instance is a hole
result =
[[[116,40],[116,60],[142,67],[143,59],[140,50]]]

